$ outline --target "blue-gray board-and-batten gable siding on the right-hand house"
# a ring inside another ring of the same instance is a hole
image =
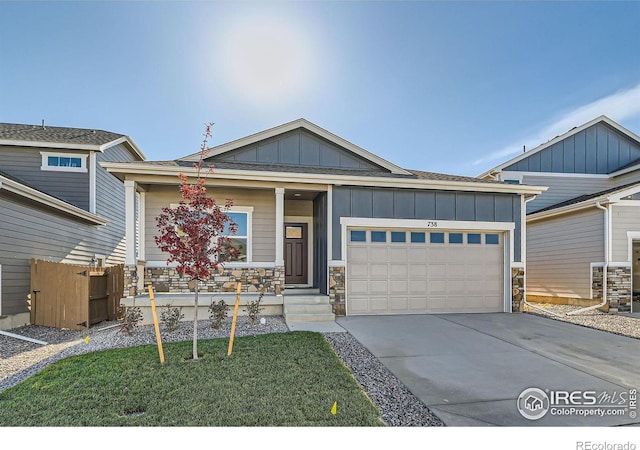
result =
[[[640,159],[640,146],[596,124],[502,169],[519,172],[608,174]]]

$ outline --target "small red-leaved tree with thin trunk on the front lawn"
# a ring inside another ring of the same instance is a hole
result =
[[[169,254],[167,264],[177,263],[176,270],[181,277],[189,277],[195,283],[195,310],[193,318],[193,359],[198,359],[198,284],[211,278],[218,267],[235,256],[236,249],[225,235],[237,232],[226,212],[232,205],[227,199],[220,207],[213,198],[207,197],[205,179],[201,176],[204,160],[210,148],[207,141],[211,137],[212,123],[205,126],[204,139],[200,145],[200,159],[194,164],[196,179],[190,182],[180,174],[180,195],[182,200],[175,207],[163,207],[156,217],[159,234],[156,245]],[[209,171],[213,167],[209,167]]]

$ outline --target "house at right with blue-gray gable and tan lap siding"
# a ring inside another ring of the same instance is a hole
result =
[[[632,308],[640,293],[638,135],[601,116],[480,177],[549,188],[527,203],[527,299]]]

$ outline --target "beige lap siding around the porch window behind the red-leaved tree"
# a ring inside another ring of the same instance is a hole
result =
[[[161,213],[163,206],[176,204],[180,201],[180,193],[178,189],[179,187],[177,185],[152,185],[146,193],[145,257],[147,261],[166,261],[167,259],[167,255],[162,253],[155,244],[154,238],[158,235],[156,217]],[[209,196],[214,198],[220,206],[224,206],[227,198],[233,200],[234,206],[253,206],[253,262],[273,263],[276,259],[275,190],[209,188],[207,192]]]

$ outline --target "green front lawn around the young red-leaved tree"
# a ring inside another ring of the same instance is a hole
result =
[[[73,356],[0,393],[0,426],[380,426],[318,333],[289,332]],[[331,413],[337,402],[336,414]]]

